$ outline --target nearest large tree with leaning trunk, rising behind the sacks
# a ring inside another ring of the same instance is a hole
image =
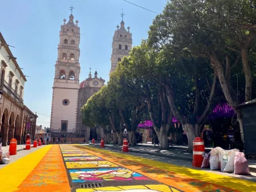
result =
[[[210,60],[226,100],[236,111],[241,132],[242,116],[236,107],[237,95],[230,86],[230,74],[242,57],[245,101],[250,99],[252,80],[247,52],[255,38],[255,11],[246,0],[174,0],[156,16],[149,32],[150,43],[155,48],[175,45],[175,48],[188,51],[194,57],[204,56]],[[230,55],[236,56],[232,64]],[[243,140],[243,134],[241,137]]]

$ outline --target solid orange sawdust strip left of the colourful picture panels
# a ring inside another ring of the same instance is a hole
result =
[[[59,145],[53,145],[16,191],[71,191]]]

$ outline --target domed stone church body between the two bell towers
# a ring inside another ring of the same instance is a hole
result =
[[[102,86],[104,86],[104,82],[105,80],[101,77],[98,78],[98,73],[96,71],[94,73],[94,77],[89,73],[89,77],[80,84],[76,136],[85,137],[86,141],[92,140],[92,137],[97,139],[97,136],[101,135],[101,128],[92,128],[82,124],[82,113],[80,110],[86,104],[88,99],[92,97],[94,93],[97,93]]]

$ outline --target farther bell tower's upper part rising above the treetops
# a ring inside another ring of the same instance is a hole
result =
[[[123,18],[123,14],[122,18]],[[124,56],[129,56],[129,52],[131,51],[131,47],[133,45],[132,34],[130,33],[130,27],[125,28],[125,22],[120,23],[121,27],[117,25],[117,30],[115,30],[112,42],[112,56],[111,56],[111,74],[115,68],[117,68],[117,64],[119,61],[123,59]]]

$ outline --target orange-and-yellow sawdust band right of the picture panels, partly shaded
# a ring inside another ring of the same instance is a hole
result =
[[[256,191],[256,183],[251,181],[222,176],[203,170],[184,168],[142,157],[134,158],[134,156],[124,153],[116,153],[95,147],[81,145],[74,145],[74,147],[84,149],[86,152],[104,158],[114,164],[124,166],[152,180],[160,181],[183,191]]]

